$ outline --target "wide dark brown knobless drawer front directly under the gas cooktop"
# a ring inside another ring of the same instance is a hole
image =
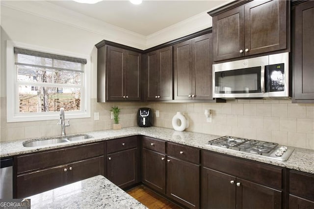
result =
[[[204,167],[269,187],[282,188],[282,168],[208,151],[201,152],[201,159]]]

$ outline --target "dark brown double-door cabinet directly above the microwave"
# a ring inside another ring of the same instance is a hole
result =
[[[213,60],[287,48],[287,1],[250,1],[212,16]]]

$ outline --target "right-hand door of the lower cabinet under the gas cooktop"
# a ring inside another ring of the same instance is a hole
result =
[[[236,179],[236,209],[281,209],[281,191]]]

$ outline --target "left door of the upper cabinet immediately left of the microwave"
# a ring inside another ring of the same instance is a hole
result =
[[[192,95],[192,40],[173,47],[175,100],[190,100]]]

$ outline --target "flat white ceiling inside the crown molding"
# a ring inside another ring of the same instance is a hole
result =
[[[96,4],[73,0],[49,1],[58,6],[114,26],[148,36],[195,15],[206,13],[229,0],[143,0],[134,5],[128,0],[103,0]]]

